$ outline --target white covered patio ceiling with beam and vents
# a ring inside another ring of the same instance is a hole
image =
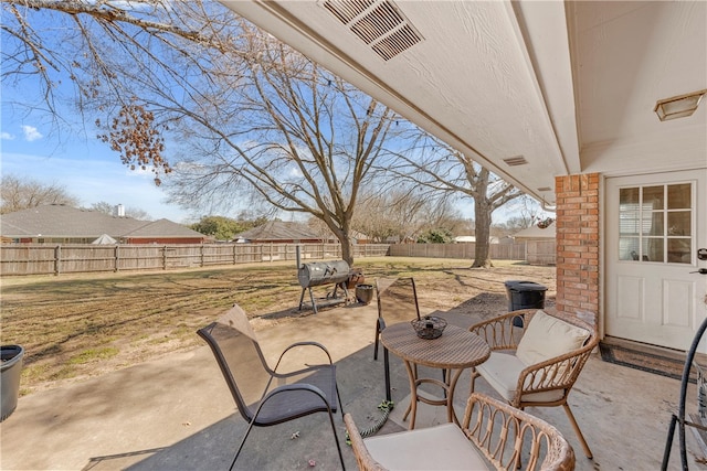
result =
[[[704,168],[701,1],[222,0],[548,204],[555,176]]]

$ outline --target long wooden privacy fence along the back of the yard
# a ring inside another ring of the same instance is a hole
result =
[[[340,259],[340,244],[184,244],[184,245],[1,245],[0,275],[61,275],[93,271],[168,270],[296,260]],[[555,240],[492,244],[490,258],[555,265]],[[474,244],[359,244],[354,258],[474,258]]]

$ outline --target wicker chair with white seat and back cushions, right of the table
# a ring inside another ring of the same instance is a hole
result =
[[[514,319],[524,318],[523,327]],[[472,393],[478,376],[511,406],[562,406],[588,458],[592,452],[572,415],[567,397],[599,338],[594,328],[573,315],[523,309],[474,324],[490,357],[472,368]]]

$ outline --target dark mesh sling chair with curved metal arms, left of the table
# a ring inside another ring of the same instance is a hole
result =
[[[294,343],[283,351],[273,370],[263,356],[245,312],[238,304],[218,321],[200,329],[198,334],[211,347],[239,413],[249,422],[231,469],[253,426],[273,426],[314,413],[328,414],[341,467],[345,468],[334,424],[334,414],[341,404],[336,366],[324,345],[316,342]],[[305,367],[287,373],[277,371],[286,353],[312,346],[319,352],[318,356],[326,356],[326,363],[307,363]]]

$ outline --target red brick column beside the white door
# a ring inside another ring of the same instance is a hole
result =
[[[599,174],[557,176],[557,309],[599,313]]]

